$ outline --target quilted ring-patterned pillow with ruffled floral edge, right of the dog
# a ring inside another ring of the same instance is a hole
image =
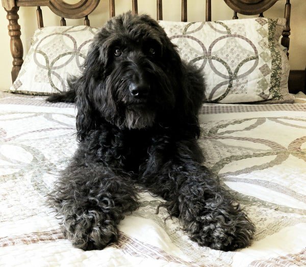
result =
[[[160,21],[182,59],[202,69],[204,101],[221,103],[294,102],[288,92],[289,62],[278,43],[285,23],[269,18]]]

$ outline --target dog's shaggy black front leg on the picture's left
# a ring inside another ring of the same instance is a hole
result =
[[[65,236],[84,250],[103,249],[116,241],[124,213],[138,206],[129,175],[114,173],[103,163],[82,164],[75,159],[51,195]]]

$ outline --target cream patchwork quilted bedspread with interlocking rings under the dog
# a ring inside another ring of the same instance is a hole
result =
[[[71,157],[75,108],[44,98],[0,99],[0,266],[305,266],[306,104],[203,104],[199,140],[256,225],[253,244],[234,252],[199,247],[160,198],[119,225],[104,250],[72,247],[46,194]]]

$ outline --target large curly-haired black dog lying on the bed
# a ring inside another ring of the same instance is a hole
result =
[[[200,246],[234,250],[254,226],[217,178],[201,166],[197,144],[202,75],[181,61],[161,26],[126,13],[97,33],[71,91],[79,147],[51,202],[75,247],[103,249],[138,207],[137,188],[163,197],[170,216]]]

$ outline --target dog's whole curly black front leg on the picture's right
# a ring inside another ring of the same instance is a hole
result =
[[[174,146],[173,156],[156,166],[155,174],[144,175],[146,187],[167,200],[169,214],[180,219],[200,246],[228,251],[250,245],[253,224],[218,178],[197,161],[192,147]]]

